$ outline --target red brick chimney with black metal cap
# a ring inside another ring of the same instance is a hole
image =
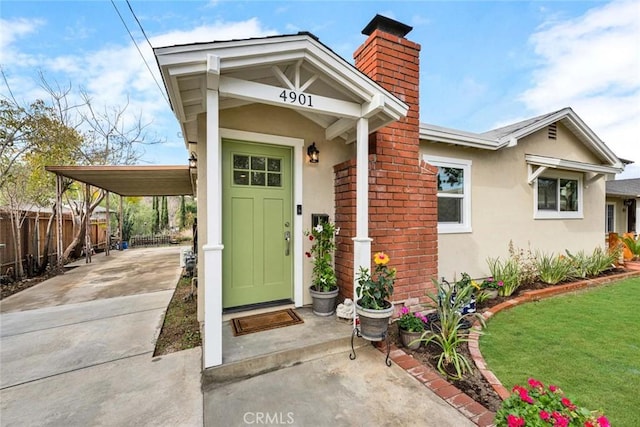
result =
[[[420,45],[408,25],[376,15],[362,33],[355,66],[409,106],[407,116],[369,137],[369,236],[372,253],[386,252],[396,267],[393,302],[416,306],[438,274],[437,169],[419,158]],[[336,272],[341,293],[353,294],[355,160],[336,165],[336,222],[341,227]]]

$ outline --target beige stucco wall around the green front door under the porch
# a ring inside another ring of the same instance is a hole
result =
[[[204,116],[200,120],[199,141],[206,140],[206,125],[204,124]],[[345,144],[342,140],[326,141],[324,129],[316,125],[312,121],[306,119],[293,110],[273,107],[268,105],[249,105],[228,110],[220,111],[220,127],[227,129],[235,129],[247,132],[256,132],[270,135],[281,135],[292,138],[304,139],[305,148],[303,150],[302,159],[302,185],[303,185],[303,201],[302,201],[302,230],[293,230],[294,233],[302,233],[304,230],[311,228],[312,213],[329,214],[331,220],[334,220],[334,174],[333,165],[341,163],[355,156],[355,145]],[[316,147],[320,151],[320,162],[316,164],[309,163],[306,155],[306,148],[312,142],[316,143]],[[206,147],[205,144],[198,144],[198,165],[206,164]],[[294,167],[296,162],[294,161]],[[202,213],[206,211],[206,200],[203,197],[206,194],[205,182],[203,175],[205,167],[199,167],[198,178],[198,225],[200,227],[201,240],[200,246],[205,244],[206,235],[206,218]],[[295,209],[295,207],[294,207]],[[303,247],[301,251],[307,251],[310,248],[308,240],[303,239]],[[202,257],[198,262],[203,262]],[[202,265],[202,264],[201,264]],[[311,304],[311,297],[308,291],[308,284],[311,283],[312,265],[308,259],[304,258],[304,303]],[[203,278],[200,278],[203,280]],[[198,301],[202,301],[199,298]]]

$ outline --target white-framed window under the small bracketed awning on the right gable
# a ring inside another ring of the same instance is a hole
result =
[[[541,176],[535,185],[535,218],[582,218],[582,176]]]

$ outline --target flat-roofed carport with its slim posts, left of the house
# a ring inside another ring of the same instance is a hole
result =
[[[48,172],[56,174],[56,227],[57,264],[62,266],[62,179],[69,178],[86,185],[87,200],[91,187],[106,191],[107,218],[110,215],[110,193],[120,196],[118,206],[118,237],[122,240],[122,198],[152,196],[185,196],[196,194],[196,168],[193,165],[162,166],[47,166]],[[89,217],[89,204],[85,206]],[[89,221],[86,221],[89,227]],[[107,237],[111,236],[110,221],[107,220]],[[90,247],[89,233],[85,233],[85,246]],[[109,255],[109,244],[105,254]],[[85,251],[86,262],[91,262],[91,251]]]

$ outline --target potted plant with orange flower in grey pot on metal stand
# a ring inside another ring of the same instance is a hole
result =
[[[356,277],[356,313],[360,318],[360,334],[369,341],[386,338],[389,319],[393,315],[393,305],[387,299],[393,294],[396,269],[389,268],[389,256],[383,252],[374,255],[373,274],[368,268],[360,267]]]

